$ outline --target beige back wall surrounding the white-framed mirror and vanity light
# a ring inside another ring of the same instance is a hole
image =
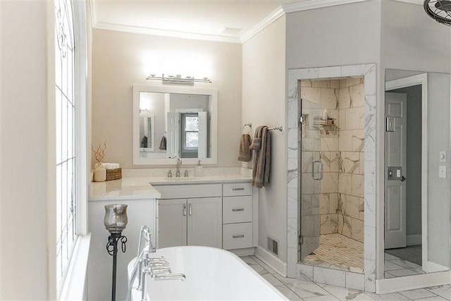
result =
[[[149,167],[132,164],[132,85],[160,85],[156,80],[145,80],[149,53],[196,53],[210,61],[207,76],[213,83],[196,83],[194,87],[218,89],[216,166],[240,166],[242,45],[93,30],[92,53],[92,144],[106,140],[104,161],[117,162],[123,168]],[[190,75],[204,76],[195,71]]]

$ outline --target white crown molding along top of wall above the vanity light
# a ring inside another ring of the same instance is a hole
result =
[[[163,37],[178,37],[180,39],[201,39],[204,41],[211,42],[227,42],[241,44],[240,38],[238,37],[225,37],[222,35],[206,35],[202,33],[180,32],[175,30],[160,30],[156,28],[119,25],[112,23],[98,22],[95,26],[93,26],[93,28],[98,30],[113,30],[118,32],[130,32],[142,35],[159,35]]]

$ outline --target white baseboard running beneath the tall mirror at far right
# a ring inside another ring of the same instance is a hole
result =
[[[450,271],[381,279],[376,280],[376,294],[388,294],[403,290],[415,290],[417,288],[445,285],[450,284],[450,281]]]

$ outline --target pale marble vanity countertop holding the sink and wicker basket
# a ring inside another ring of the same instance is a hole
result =
[[[237,175],[188,178],[130,177],[120,180],[89,183],[89,202],[121,199],[159,199],[160,192],[153,185],[188,185],[209,183],[250,182],[252,177]]]

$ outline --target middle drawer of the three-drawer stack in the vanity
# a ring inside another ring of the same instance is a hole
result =
[[[223,197],[223,223],[252,221],[252,196]]]

